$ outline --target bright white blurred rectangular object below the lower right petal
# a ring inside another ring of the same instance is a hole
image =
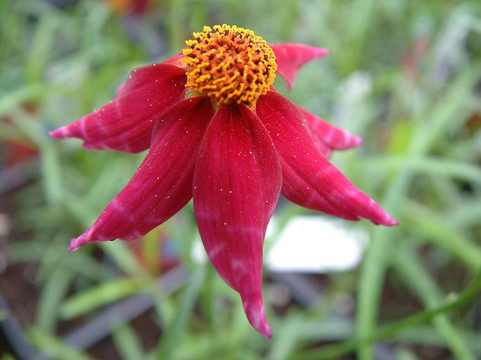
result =
[[[319,216],[293,217],[266,256],[271,271],[324,273],[356,267],[368,240],[366,231]]]

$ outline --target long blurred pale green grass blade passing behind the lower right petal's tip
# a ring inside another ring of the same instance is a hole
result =
[[[464,123],[466,115],[469,114],[466,107],[472,107],[472,89],[478,79],[477,75],[471,67],[466,67],[446,87],[434,107],[426,109],[426,114],[416,114],[419,116],[416,118],[419,126],[416,127],[408,147],[409,156],[424,156],[446,129],[454,127],[453,123],[458,126]],[[423,121],[423,118],[428,121]],[[381,204],[394,216],[397,215],[395,210],[400,208],[401,201],[406,197],[412,177],[411,170],[399,168],[394,174],[394,181],[388,185],[389,190]],[[392,237],[392,229],[375,228],[366,251],[358,286],[357,336],[360,338],[371,336],[375,331],[382,283],[389,264],[389,240]],[[370,360],[372,354],[371,344],[360,343],[357,351],[360,360]]]

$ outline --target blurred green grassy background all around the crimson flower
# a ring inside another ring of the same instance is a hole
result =
[[[1,0],[0,359],[481,359],[481,2]],[[270,341],[214,273],[189,204],[135,242],[67,253],[144,154],[51,129],[203,25],[330,49],[287,92],[364,138],[332,162],[400,221],[281,200]]]

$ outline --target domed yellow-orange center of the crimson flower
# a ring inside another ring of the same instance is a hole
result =
[[[204,26],[185,42],[185,87],[210,96],[217,106],[237,102],[253,109],[276,78],[276,57],[262,37],[237,26]]]

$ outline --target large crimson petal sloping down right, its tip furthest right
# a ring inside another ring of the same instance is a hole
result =
[[[320,154],[296,105],[269,91],[259,98],[256,109],[276,146],[287,199],[345,219],[398,224]]]

